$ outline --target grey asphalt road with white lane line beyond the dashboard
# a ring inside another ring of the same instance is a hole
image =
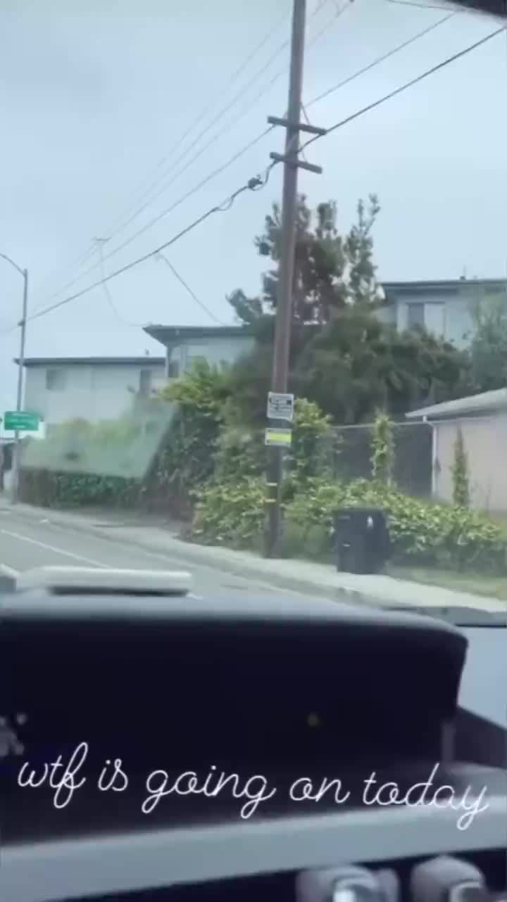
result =
[[[32,567],[47,565],[190,571],[192,593],[200,596],[237,594],[239,591],[296,595],[262,581],[242,579],[215,567],[190,567],[176,556],[134,548],[122,542],[121,538],[98,538],[67,526],[33,522],[15,511],[0,510],[0,572],[16,576]]]

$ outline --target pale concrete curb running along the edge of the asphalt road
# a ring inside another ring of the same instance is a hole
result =
[[[168,534],[167,538],[158,540],[157,538],[143,538],[138,535],[129,535],[129,530],[135,527],[116,526],[114,529],[109,527],[95,526],[93,523],[81,520],[73,514],[66,511],[54,511],[51,508],[32,508],[28,505],[1,505],[0,511],[13,511],[16,516],[23,517],[25,520],[37,521],[41,523],[43,520],[58,525],[65,526],[68,529],[74,529],[77,532],[85,532],[88,535],[105,539],[110,542],[121,541],[125,545],[133,548],[143,548],[144,551],[152,551],[155,554],[165,557],[179,557],[182,562],[188,566],[192,564],[200,566],[211,566],[214,569],[221,570],[223,573],[241,576],[243,578],[251,577],[259,583],[277,586],[281,589],[289,589],[292,592],[318,595],[335,601],[354,601],[363,603],[373,603],[378,601],[375,596],[364,594],[357,589],[343,585],[319,584],[310,579],[300,576],[290,576],[277,573],[271,568],[263,567],[262,558],[252,558],[238,560],[232,557],[236,554],[228,548],[217,548],[216,546],[194,545],[185,542],[180,538]],[[121,530],[121,531],[120,531]],[[169,548],[168,548],[169,545]]]

